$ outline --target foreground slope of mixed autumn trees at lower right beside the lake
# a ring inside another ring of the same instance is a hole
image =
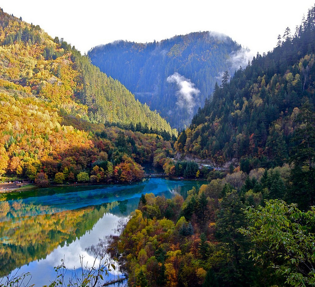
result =
[[[275,199],[288,170],[227,174],[185,200],[142,195],[111,250],[128,286],[314,286],[315,210]]]

